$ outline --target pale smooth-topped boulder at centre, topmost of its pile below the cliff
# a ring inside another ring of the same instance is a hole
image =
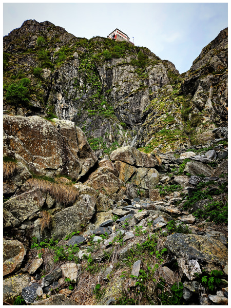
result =
[[[141,152],[130,145],[114,150],[111,153],[110,159],[146,168],[152,168],[158,164],[152,155]]]

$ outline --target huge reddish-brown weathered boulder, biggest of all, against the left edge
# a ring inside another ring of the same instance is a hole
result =
[[[66,120],[32,117],[4,117],[4,153],[27,168],[48,176],[67,174],[79,179],[97,161],[85,134]]]

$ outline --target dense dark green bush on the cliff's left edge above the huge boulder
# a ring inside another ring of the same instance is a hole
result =
[[[8,86],[6,92],[6,99],[17,104],[27,105],[29,103],[28,99],[28,86],[30,84],[30,80],[28,78],[23,78],[20,82],[12,83]]]

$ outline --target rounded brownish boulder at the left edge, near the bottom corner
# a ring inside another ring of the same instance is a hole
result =
[[[20,269],[26,252],[26,248],[21,242],[3,240],[3,276]]]

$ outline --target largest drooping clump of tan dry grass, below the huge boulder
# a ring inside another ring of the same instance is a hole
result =
[[[52,183],[46,180],[31,178],[27,180],[28,188],[38,188],[45,194],[50,194],[52,198],[65,206],[73,204],[79,197],[79,191],[70,185]]]

